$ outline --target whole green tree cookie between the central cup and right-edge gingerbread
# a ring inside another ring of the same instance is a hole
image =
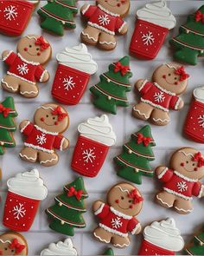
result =
[[[152,147],[156,143],[151,135],[149,125],[131,135],[131,141],[124,144],[123,153],[114,158],[118,164],[118,176],[127,181],[142,184],[142,175],[152,177],[150,161],[155,160]]]

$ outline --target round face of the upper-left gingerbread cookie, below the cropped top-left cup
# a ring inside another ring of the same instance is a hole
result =
[[[17,52],[29,62],[44,64],[52,55],[50,44],[42,36],[24,36],[17,44]]]

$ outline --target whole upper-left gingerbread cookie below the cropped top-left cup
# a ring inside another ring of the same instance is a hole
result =
[[[9,70],[2,79],[2,88],[26,98],[35,98],[39,93],[36,82],[48,82],[48,70],[42,65],[48,62],[51,54],[51,46],[44,37],[22,37],[17,43],[17,53],[12,50],[3,51],[3,62],[9,66]]]

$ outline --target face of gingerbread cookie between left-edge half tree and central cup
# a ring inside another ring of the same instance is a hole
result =
[[[37,126],[49,132],[63,133],[69,126],[67,111],[57,104],[44,104],[34,115]]]

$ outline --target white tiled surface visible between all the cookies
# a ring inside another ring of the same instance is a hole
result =
[[[83,3],[88,2],[94,4],[94,1],[79,1],[79,8]],[[128,55],[129,44],[131,40],[132,31],[134,30],[136,10],[141,8],[148,1],[131,1],[131,11],[129,16],[126,17],[126,21],[129,24],[130,30],[127,36],[118,36],[118,47],[114,51],[104,52],[96,48],[89,47],[89,51],[96,62],[99,64],[99,71],[96,75],[92,76],[89,83],[91,87],[95,82],[99,81],[99,75],[108,69],[110,62],[115,62],[118,58]],[[150,1],[149,1],[150,2]],[[45,1],[41,1],[41,5],[45,4]],[[169,62],[172,60],[172,49],[169,47],[170,36],[177,34],[179,25],[185,23],[186,16],[190,13],[194,13],[203,1],[169,1],[169,8],[172,10],[177,20],[177,26],[174,31],[169,33],[163,48],[154,61],[138,61],[131,58],[131,71],[133,77],[131,78],[132,85],[139,78],[149,78],[156,67],[163,62]],[[73,31],[66,31],[65,36],[51,36],[48,33],[41,31],[39,25],[39,16],[35,13],[29,23],[28,28],[25,30],[24,35],[28,34],[39,34],[45,36],[53,46],[53,58],[48,63],[47,69],[51,74],[51,79],[47,84],[40,85],[40,95],[34,100],[27,100],[19,95],[13,95],[16,102],[16,110],[18,117],[16,123],[24,119],[31,119],[34,115],[35,109],[45,102],[52,102],[52,96],[50,95],[50,89],[54,79],[54,72],[56,69],[55,56],[56,53],[60,52],[65,47],[72,47],[80,43],[80,32],[84,27],[80,19],[80,14],[76,16],[77,29]],[[0,35],[0,49],[13,49],[16,50],[16,42],[18,38],[12,38],[8,36]],[[192,141],[188,141],[182,135],[182,126],[185,116],[188,111],[188,105],[190,102],[192,90],[200,85],[204,85],[203,82],[203,70],[204,63],[201,59],[197,66],[187,67],[188,73],[191,75],[188,84],[187,93],[183,96],[185,100],[185,108],[182,111],[175,112],[171,111],[171,122],[167,127],[152,127],[152,134],[156,141],[156,148],[154,152],[156,154],[156,161],[152,162],[152,167],[156,167],[159,164],[168,164],[170,154],[179,147],[192,146],[199,149],[204,149],[201,144],[196,144]],[[6,67],[0,62],[0,78],[5,74]],[[6,95],[10,95],[0,90],[0,99],[3,100]],[[137,99],[135,93],[128,94],[131,105],[133,105]],[[94,108],[91,102],[91,95],[89,90],[86,89],[86,93],[83,96],[81,102],[77,106],[66,107],[70,115],[70,127],[67,129],[65,135],[70,140],[71,147],[68,151],[60,153],[60,162],[55,167],[41,167],[36,164],[41,173],[41,178],[44,180],[48,187],[48,198],[41,203],[39,213],[36,215],[35,222],[28,233],[23,233],[29,243],[29,254],[40,254],[41,250],[48,246],[51,242],[58,240],[64,240],[66,236],[60,233],[54,233],[48,227],[47,215],[44,210],[54,204],[54,196],[60,194],[62,187],[70,182],[77,176],[73,173],[70,168],[70,162],[73,154],[73,147],[77,140],[77,126],[81,121],[86,121],[88,117],[103,114],[97,108]],[[86,190],[88,191],[89,198],[86,200],[87,213],[84,214],[86,220],[85,229],[75,229],[75,236],[73,237],[73,244],[77,248],[79,254],[83,255],[94,255],[103,253],[106,248],[105,244],[99,243],[92,238],[92,230],[97,226],[97,220],[94,220],[92,214],[92,202],[94,200],[102,199],[105,200],[105,192],[116,184],[118,181],[122,181],[116,174],[116,167],[113,165],[112,158],[121,152],[122,145],[125,141],[130,140],[132,132],[137,131],[146,122],[138,121],[131,116],[130,108],[118,108],[117,115],[109,115],[110,121],[118,137],[117,144],[110,151],[106,158],[105,164],[102,167],[99,175],[94,178],[85,178]],[[26,171],[31,169],[31,164],[22,161],[18,154],[22,148],[22,136],[19,131],[15,134],[17,147],[6,150],[0,158],[0,167],[3,170],[3,184],[1,187],[1,214],[3,213],[3,204],[6,195],[6,181],[18,172]],[[143,226],[146,226],[153,220],[162,220],[167,217],[175,218],[177,226],[181,229],[182,235],[185,240],[188,240],[189,236],[194,232],[194,229],[201,225],[203,222],[203,200],[194,198],[194,212],[188,215],[179,215],[174,211],[160,207],[154,202],[156,191],[159,190],[161,184],[154,179],[143,177],[143,184],[137,186],[143,194],[144,203],[143,210],[137,216]],[[5,228],[0,225],[0,231],[3,232]],[[138,246],[140,244],[140,236],[131,237],[131,246],[126,249],[114,249],[115,254],[137,254]]]

